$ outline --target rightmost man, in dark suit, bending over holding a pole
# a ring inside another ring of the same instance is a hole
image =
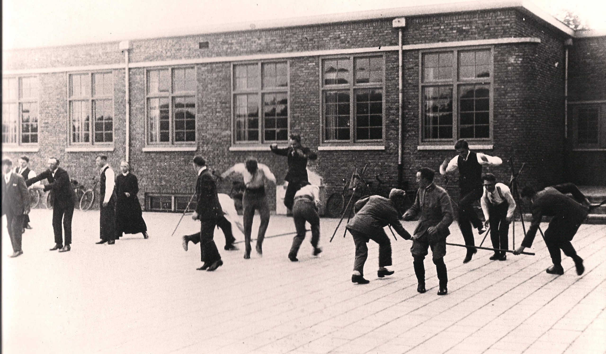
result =
[[[567,193],[570,193],[574,199],[567,196]],[[546,272],[564,274],[562,254],[560,253],[562,250],[565,255],[573,259],[576,273],[582,275],[585,272],[583,259],[576,254],[570,241],[589,213],[590,205],[587,198],[572,183],[553,185],[539,192],[527,186],[522,190],[522,198],[525,202],[531,203],[532,222],[522,245],[513,254],[519,255],[524,252],[526,247],[532,247],[534,236],[543,216],[553,216],[545,230],[545,244],[551,256],[551,262],[553,262],[553,266],[549,267]]]

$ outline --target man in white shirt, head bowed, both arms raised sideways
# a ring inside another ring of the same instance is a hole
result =
[[[244,241],[246,244],[244,259],[250,258],[250,235],[253,229],[255,210],[258,210],[259,216],[261,216],[256,250],[259,255],[263,255],[263,239],[265,238],[265,231],[267,231],[267,226],[269,225],[270,216],[269,205],[267,204],[267,197],[265,196],[265,181],[269,180],[273,184],[276,184],[276,177],[271,173],[269,167],[264,164],[259,164],[257,160],[252,157],[247,158],[245,164],[233,165],[230,169],[225,171],[221,177],[225,178],[231,175],[231,173],[239,173],[242,175],[244,178],[244,185],[246,186],[244,197],[242,198],[242,204],[244,206]]]

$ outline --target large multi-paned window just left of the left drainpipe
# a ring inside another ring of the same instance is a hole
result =
[[[70,144],[113,143],[113,73],[69,76]]]

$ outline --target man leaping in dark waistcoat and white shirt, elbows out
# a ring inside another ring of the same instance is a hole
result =
[[[454,144],[454,150],[458,153],[448,162],[445,159],[440,166],[441,175],[447,173],[453,173],[456,170],[459,171],[459,188],[461,193],[459,194],[459,229],[465,239],[465,244],[468,246],[474,246],[475,241],[473,239],[473,230],[471,225],[478,229],[478,233],[482,235],[484,225],[478,218],[478,214],[473,209],[473,203],[478,201],[482,197],[482,166],[498,166],[503,161],[494,156],[488,156],[483,153],[471,152],[469,145],[465,139],[459,139]],[[467,255],[463,260],[464,263],[471,261],[471,256],[478,250],[473,247],[468,247]]]

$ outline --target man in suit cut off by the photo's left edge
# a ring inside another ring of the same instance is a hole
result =
[[[30,212],[30,193],[21,175],[11,171],[13,162],[2,159],[2,215],[6,215],[8,236],[13,245],[11,257],[23,254],[21,234],[23,219]]]

